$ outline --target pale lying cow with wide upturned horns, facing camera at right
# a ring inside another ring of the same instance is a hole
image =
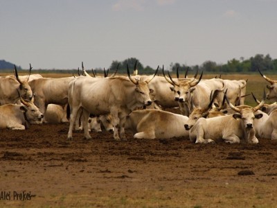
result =
[[[199,119],[190,130],[190,141],[195,143],[211,143],[217,139],[224,139],[227,143],[240,143],[240,139],[245,139],[248,143],[257,144],[253,128],[253,119],[260,119],[262,114],[255,113],[265,103],[264,97],[256,107],[239,109],[226,98],[229,106],[238,112],[229,116],[219,116],[211,119]]]

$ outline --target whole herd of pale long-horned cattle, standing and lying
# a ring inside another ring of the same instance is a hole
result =
[[[30,65],[30,72],[31,72]],[[102,128],[113,132],[114,139],[125,140],[125,129],[136,139],[186,137],[195,143],[224,139],[228,143],[258,143],[257,138],[277,139],[277,104],[265,99],[277,98],[277,80],[267,80],[262,101],[244,105],[247,80],[222,78],[172,78],[166,75],[138,75],[136,64],[131,75],[90,76],[83,67],[82,75],[66,78],[43,78],[39,74],[0,77],[0,128],[24,130],[29,123],[69,122],[67,139],[74,130]],[[178,109],[180,114],[165,111]],[[119,132],[118,132],[119,131]]]

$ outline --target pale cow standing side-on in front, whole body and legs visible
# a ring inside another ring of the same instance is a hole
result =
[[[158,67],[159,69],[159,67]],[[78,112],[82,112],[82,123],[84,126],[84,137],[91,139],[88,130],[89,114],[102,115],[111,113],[111,121],[114,125],[114,139],[126,139],[125,137],[125,116],[137,107],[151,105],[148,83],[154,75],[147,79],[134,79],[129,74],[128,78],[87,78],[78,77],[69,84],[69,106],[71,108],[71,118],[69,133],[67,138],[72,139],[73,125]],[[120,137],[118,128],[120,127]]]

